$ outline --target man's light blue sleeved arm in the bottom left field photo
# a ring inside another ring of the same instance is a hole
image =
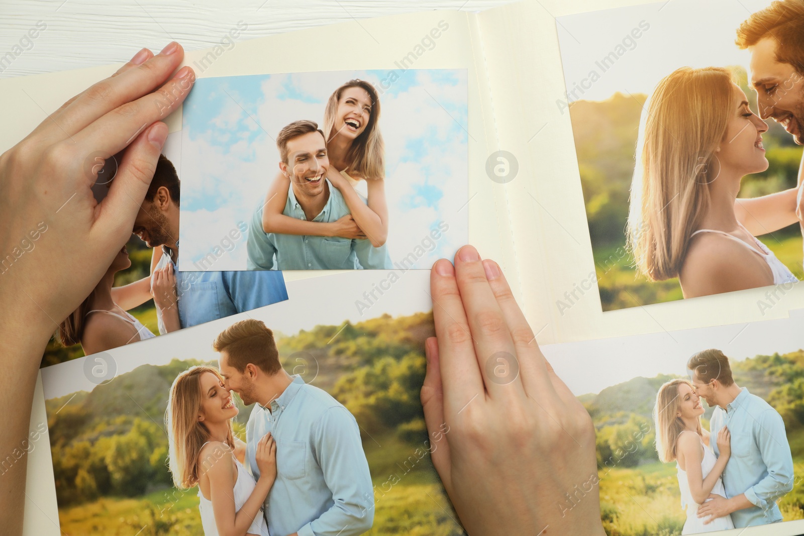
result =
[[[313,444],[334,504],[302,526],[298,536],[357,536],[374,523],[374,488],[360,430],[345,407],[330,407],[318,423]]]

